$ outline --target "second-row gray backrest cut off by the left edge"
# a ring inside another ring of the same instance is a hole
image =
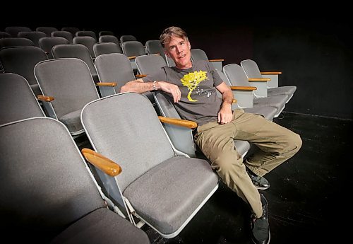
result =
[[[18,74],[0,74],[0,124],[45,116],[28,82]]]

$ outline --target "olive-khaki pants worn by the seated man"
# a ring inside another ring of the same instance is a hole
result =
[[[246,173],[243,158],[234,147],[234,139],[249,141],[260,149],[244,163],[253,173],[263,176],[294,156],[301,148],[301,138],[261,115],[244,110],[234,110],[233,120],[227,124],[209,122],[198,127],[196,144],[210,160],[212,168],[260,217],[260,194]]]

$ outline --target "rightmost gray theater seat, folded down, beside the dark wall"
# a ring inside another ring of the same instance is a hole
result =
[[[258,64],[251,59],[246,59],[240,62],[241,67],[244,69],[248,78],[270,78],[271,80],[267,83],[267,95],[268,97],[273,95],[287,95],[287,103],[293,97],[297,86],[278,86],[278,74],[261,74],[258,69]]]

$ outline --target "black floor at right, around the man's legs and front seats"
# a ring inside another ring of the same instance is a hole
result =
[[[351,243],[352,120],[284,112],[274,120],[301,135],[299,153],[265,176],[261,191],[270,205],[270,243]],[[249,209],[224,185],[179,236],[160,237],[148,226],[153,244],[251,243]]]

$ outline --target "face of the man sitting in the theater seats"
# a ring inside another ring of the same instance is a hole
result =
[[[191,68],[191,45],[189,40],[172,36],[170,42],[164,45],[165,53],[172,58],[179,69]]]

